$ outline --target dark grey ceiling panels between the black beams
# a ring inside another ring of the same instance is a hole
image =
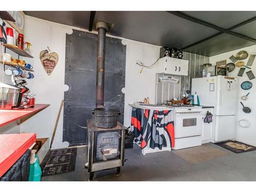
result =
[[[255,17],[256,11],[182,11],[209,24],[228,29]],[[89,29],[90,11],[25,11],[25,14],[52,22]],[[218,30],[192,22],[165,11],[96,11],[95,19],[115,24],[112,35],[158,46],[186,48],[219,33]],[[250,22],[232,32],[256,38],[256,22]],[[221,34],[184,51],[213,56],[254,45],[248,39]]]

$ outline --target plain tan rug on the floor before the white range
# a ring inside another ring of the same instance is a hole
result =
[[[229,155],[227,152],[208,145],[183,148],[182,150],[174,150],[172,152],[193,164]]]

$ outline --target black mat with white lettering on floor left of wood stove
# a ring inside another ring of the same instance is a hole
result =
[[[42,177],[72,172],[76,167],[77,148],[60,148],[47,153],[40,166]]]

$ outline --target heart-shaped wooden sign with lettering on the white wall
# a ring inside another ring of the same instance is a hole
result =
[[[51,75],[52,71],[57,65],[59,60],[58,54],[55,52],[49,53],[48,50],[44,50],[40,52],[40,60],[42,63],[42,67],[46,70],[48,75]]]

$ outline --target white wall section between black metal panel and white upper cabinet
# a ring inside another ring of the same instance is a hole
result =
[[[132,108],[129,103],[143,101],[148,97],[150,103],[155,103],[156,98],[156,73],[157,68],[147,69],[136,65],[143,62],[151,66],[158,58],[160,47],[144,44],[138,41],[122,40],[126,44],[125,66],[125,99],[124,99],[124,126],[131,126]]]

